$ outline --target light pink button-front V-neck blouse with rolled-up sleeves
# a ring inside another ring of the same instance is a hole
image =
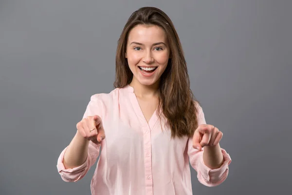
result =
[[[197,106],[199,125],[206,124]],[[82,179],[100,155],[91,179],[92,195],[192,195],[189,163],[203,185],[221,184],[231,162],[226,151],[221,148],[223,165],[210,169],[203,162],[203,151],[193,148],[192,138],[171,139],[165,117],[159,119],[158,114],[155,111],[147,123],[129,85],[91,96],[83,117],[100,116],[106,138],[99,145],[90,141],[87,160],[73,169],[63,164],[66,147],[57,160],[61,178]]]

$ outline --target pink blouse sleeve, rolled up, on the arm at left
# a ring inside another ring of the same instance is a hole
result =
[[[91,96],[91,100],[86,108],[83,118],[94,115],[98,115],[99,117],[102,118],[102,104],[97,99],[97,95]],[[90,141],[86,161],[82,165],[75,167],[73,169],[71,168],[65,169],[65,166],[63,164],[63,159],[67,148],[68,146],[65,149],[63,149],[63,151],[58,157],[57,170],[64,181],[77,182],[87,174],[91,166],[96,162],[96,159],[99,156],[101,144],[97,145]]]

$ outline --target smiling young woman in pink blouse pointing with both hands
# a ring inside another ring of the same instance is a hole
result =
[[[192,195],[190,166],[206,186],[222,183],[230,156],[222,133],[194,99],[180,39],[160,9],[143,7],[126,23],[116,52],[115,89],[95,94],[60,154],[67,182],[97,162],[93,195]]]

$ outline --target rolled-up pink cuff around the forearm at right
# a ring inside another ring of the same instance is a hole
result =
[[[219,184],[226,179],[228,175],[228,171],[229,171],[228,165],[231,163],[231,158],[229,154],[227,154],[227,152],[222,148],[221,148],[221,152],[223,155],[224,162],[217,169],[211,169],[207,167],[204,163],[203,156],[201,154],[200,156],[201,159],[198,166],[198,171],[200,172],[200,174],[198,175],[199,180],[204,179],[208,183],[213,183],[212,186],[215,186],[216,183]]]

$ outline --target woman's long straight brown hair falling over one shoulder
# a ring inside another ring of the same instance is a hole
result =
[[[142,7],[128,19],[118,40],[116,51],[115,88],[129,84],[133,74],[125,58],[129,31],[138,24],[157,25],[164,29],[170,48],[167,67],[160,78],[159,108],[162,108],[171,129],[171,137],[192,137],[198,126],[197,108],[190,89],[190,80],[183,48],[172,21],[160,9]]]

